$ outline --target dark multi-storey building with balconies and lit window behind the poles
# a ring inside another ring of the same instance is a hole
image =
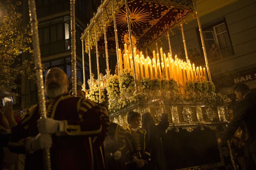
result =
[[[68,78],[71,75],[71,34],[70,34],[70,0],[35,0],[38,17],[38,33],[40,40],[41,59],[47,73],[49,68],[63,69]],[[99,0],[76,0],[76,55],[77,79],[83,82],[81,33],[84,31],[93,12],[100,5]],[[23,14],[24,26],[29,24],[28,0],[22,1],[20,12]],[[22,54],[22,60],[28,58]],[[86,79],[89,78],[88,61]],[[38,101],[36,83],[25,75],[17,80],[17,104],[15,109],[29,108]]]

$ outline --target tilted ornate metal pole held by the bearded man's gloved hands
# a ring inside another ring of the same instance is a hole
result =
[[[29,0],[29,16],[30,16],[30,24],[32,29],[32,43],[33,43],[33,50],[34,50],[35,75],[37,79],[38,104],[39,104],[40,116],[41,118],[47,118],[45,96],[44,96],[44,80],[43,80],[43,71],[42,71],[42,63],[41,63],[41,52],[40,52],[39,37],[38,37],[38,20],[36,15],[35,0]],[[44,169],[51,170],[50,148],[44,149],[43,157],[45,159]]]

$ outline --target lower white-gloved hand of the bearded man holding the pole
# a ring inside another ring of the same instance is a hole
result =
[[[25,148],[28,153],[33,153],[36,150],[52,147],[52,136],[50,134],[38,134],[37,136],[29,139]]]

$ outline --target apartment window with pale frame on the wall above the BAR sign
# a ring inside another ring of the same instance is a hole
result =
[[[234,55],[229,32],[224,22],[204,29],[203,35],[209,60],[215,61]]]

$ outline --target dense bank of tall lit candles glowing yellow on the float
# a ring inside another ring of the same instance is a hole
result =
[[[125,54],[122,54],[119,49],[119,70],[120,73],[123,71],[122,63],[124,64],[124,68],[131,70],[133,68],[132,56],[129,54],[127,50],[127,45],[124,45]],[[137,79],[140,82],[143,77],[148,79],[166,79],[171,80],[174,79],[177,81],[179,85],[184,85],[186,81],[207,81],[207,74],[205,68],[197,67],[195,68],[194,64],[190,64],[190,61],[183,62],[177,58],[175,55],[175,59],[168,53],[163,53],[163,49],[160,48],[160,56],[159,54],[153,51],[153,58],[144,57],[142,52],[136,54],[136,48],[134,48],[134,62],[135,62],[135,70]],[[161,57],[161,58],[160,58]]]

